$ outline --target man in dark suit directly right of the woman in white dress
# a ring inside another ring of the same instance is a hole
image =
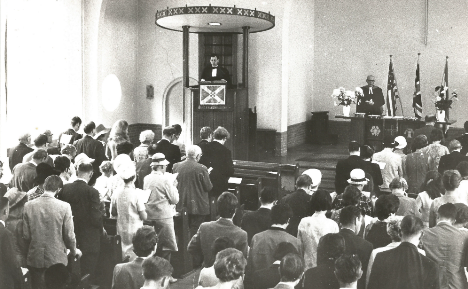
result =
[[[357,283],[357,288],[364,289],[366,287],[366,272],[369,264],[370,254],[372,254],[372,243],[357,236],[361,228],[361,222],[364,222],[361,212],[356,206],[344,207],[339,215],[341,230],[338,234],[343,236],[346,244],[346,254],[356,254],[362,264],[362,277]]]

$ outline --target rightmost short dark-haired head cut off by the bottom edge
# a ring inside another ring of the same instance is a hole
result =
[[[361,261],[354,255],[343,255],[335,262],[335,276],[340,288],[357,288],[362,276]]]

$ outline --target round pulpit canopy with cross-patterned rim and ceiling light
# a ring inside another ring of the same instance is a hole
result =
[[[190,33],[221,32],[242,34],[242,27],[250,27],[250,33],[275,27],[275,16],[257,9],[218,6],[194,6],[169,8],[157,11],[155,24],[161,28],[182,31],[190,26]]]

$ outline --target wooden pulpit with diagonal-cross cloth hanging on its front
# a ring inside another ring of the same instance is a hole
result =
[[[257,113],[249,108],[246,88],[227,88],[225,82],[200,82],[191,86],[193,143],[201,141],[200,130],[224,127],[231,138],[224,144],[233,159],[255,160]]]

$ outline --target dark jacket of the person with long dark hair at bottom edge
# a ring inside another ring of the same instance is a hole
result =
[[[304,275],[304,289],[339,289],[334,260],[309,268]]]

